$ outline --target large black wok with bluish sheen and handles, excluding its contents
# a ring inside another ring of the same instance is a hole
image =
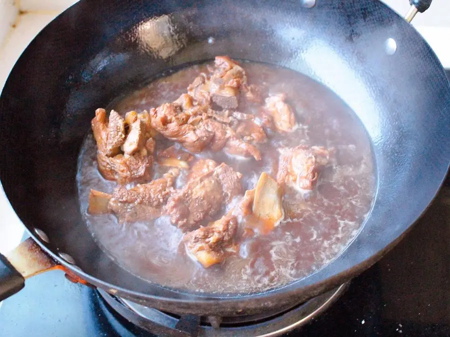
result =
[[[415,1],[408,19],[429,2]],[[312,4],[81,0],[46,26],[1,93],[0,179],[35,243],[1,257],[0,299],[23,277],[62,268],[72,281],[172,313],[253,314],[332,289],[398,243],[447,172],[449,83],[423,38],[381,2]],[[264,293],[183,293],[131,275],[94,242],[77,199],[77,157],[95,109],[163,70],[221,54],[328,86],[364,124],[376,160],[376,195],[360,234],[315,274]]]

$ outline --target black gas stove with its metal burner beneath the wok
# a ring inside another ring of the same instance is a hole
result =
[[[450,71],[447,72],[450,77]],[[26,281],[0,336],[450,336],[450,177],[407,236],[349,284],[259,317],[178,317],[68,282]]]

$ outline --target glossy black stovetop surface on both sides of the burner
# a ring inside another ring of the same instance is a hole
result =
[[[95,290],[49,272],[3,302],[0,336],[151,336],[104,309]],[[289,336],[450,336],[450,179],[390,253]]]

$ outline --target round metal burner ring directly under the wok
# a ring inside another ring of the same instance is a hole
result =
[[[332,291],[283,311],[233,317],[178,316],[114,297],[102,290],[99,290],[99,293],[120,316],[157,336],[272,337],[299,328],[312,318],[316,318],[333,304],[347,287],[348,283],[343,284]]]

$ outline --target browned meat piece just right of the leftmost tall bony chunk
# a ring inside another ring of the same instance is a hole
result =
[[[175,103],[164,103],[150,110],[151,126],[165,138],[177,141],[191,152],[199,153],[209,143],[213,133],[201,126],[186,124],[190,115],[181,112]]]

